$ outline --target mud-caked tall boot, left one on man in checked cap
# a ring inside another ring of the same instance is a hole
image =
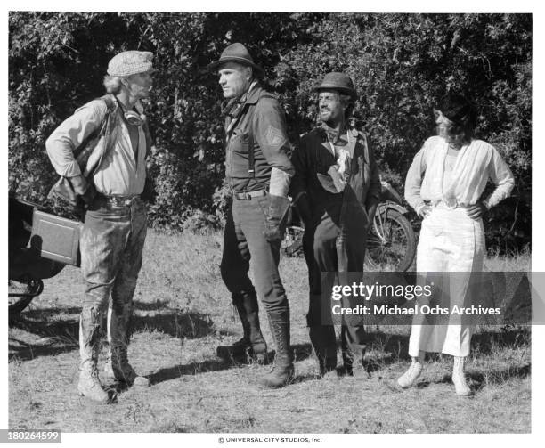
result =
[[[94,306],[84,306],[79,317],[79,395],[98,403],[110,403],[108,393],[98,378],[102,312]]]

